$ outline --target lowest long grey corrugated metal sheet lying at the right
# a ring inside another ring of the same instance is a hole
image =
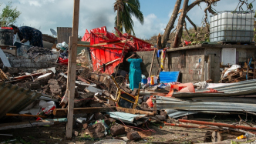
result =
[[[231,98],[232,99],[232,98]],[[181,99],[157,96],[157,109],[179,109],[187,111],[214,111],[214,112],[256,112],[254,103],[234,102],[189,102]]]

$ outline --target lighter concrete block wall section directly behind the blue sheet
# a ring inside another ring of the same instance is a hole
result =
[[[204,81],[204,49],[167,52],[167,59],[164,70],[180,71],[180,82]],[[182,64],[183,59],[184,64]]]

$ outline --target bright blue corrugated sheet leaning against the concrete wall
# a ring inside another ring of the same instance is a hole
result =
[[[177,82],[179,79],[180,71],[177,72],[160,72],[160,82],[161,83],[169,83],[169,82]]]

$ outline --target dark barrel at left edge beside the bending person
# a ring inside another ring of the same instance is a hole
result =
[[[0,45],[13,45],[13,30],[0,29]]]

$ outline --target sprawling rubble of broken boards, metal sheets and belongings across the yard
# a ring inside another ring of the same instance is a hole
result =
[[[254,119],[251,119],[251,122],[248,120],[248,115],[256,116],[256,85],[254,69],[251,68],[254,65],[253,60],[251,64],[248,62],[248,67],[233,65],[224,72],[221,82],[232,83],[210,83],[211,79],[180,83],[181,71],[160,72],[159,75],[147,74],[148,77],[146,74],[142,75],[140,88],[132,91],[127,79],[129,72],[122,68],[126,67],[123,65],[126,52],[154,50],[152,54],[155,55],[157,49],[132,35],[121,34],[118,31],[117,34],[119,36],[107,32],[106,27],[95,28],[86,33],[83,39],[101,41],[88,45],[79,44],[89,47],[88,52],[93,62],[89,64],[86,49],[81,51],[79,58],[76,59],[76,81],[73,85],[75,99],[72,109],[72,133],[76,138],[109,139],[109,142],[113,142],[114,139],[122,140],[120,142],[141,142],[143,139],[143,142],[153,142],[150,137],[156,133],[162,132],[164,135],[167,129],[172,132],[169,126],[183,127],[184,131],[202,129],[208,132],[204,133],[205,136],[192,138],[188,138],[189,134],[183,133],[181,136],[158,140],[155,143],[198,142],[198,139],[205,139],[204,142],[207,142],[207,139],[210,142],[217,142],[236,139],[239,136],[239,139],[254,138]],[[54,49],[56,50],[37,47],[22,49],[21,46],[18,50],[19,56],[24,54],[33,62],[52,63],[51,66],[43,65],[42,69],[25,69],[26,66],[17,69],[6,66],[4,62],[0,65],[0,99],[3,105],[0,111],[0,120],[3,122],[0,130],[37,126],[50,129],[62,123],[66,124],[69,111],[69,92],[66,88],[69,82],[66,66],[69,49],[66,42],[57,44]],[[157,54],[162,61],[165,59],[165,50],[160,50],[162,53]],[[100,57],[99,54],[109,54],[111,59]],[[150,55],[150,59],[151,57]],[[14,56],[7,55],[5,58],[12,58],[10,65],[14,65]],[[41,64],[39,66],[41,67]],[[160,67],[163,66],[164,62],[161,62]],[[238,82],[241,80],[246,81]],[[227,124],[215,122],[215,119],[211,119],[214,122],[190,120],[203,114],[233,114],[238,115],[240,121]],[[243,114],[246,119],[241,119]],[[185,125],[185,122],[194,124]],[[62,132],[65,132],[64,129]],[[180,131],[183,132],[182,129]]]

